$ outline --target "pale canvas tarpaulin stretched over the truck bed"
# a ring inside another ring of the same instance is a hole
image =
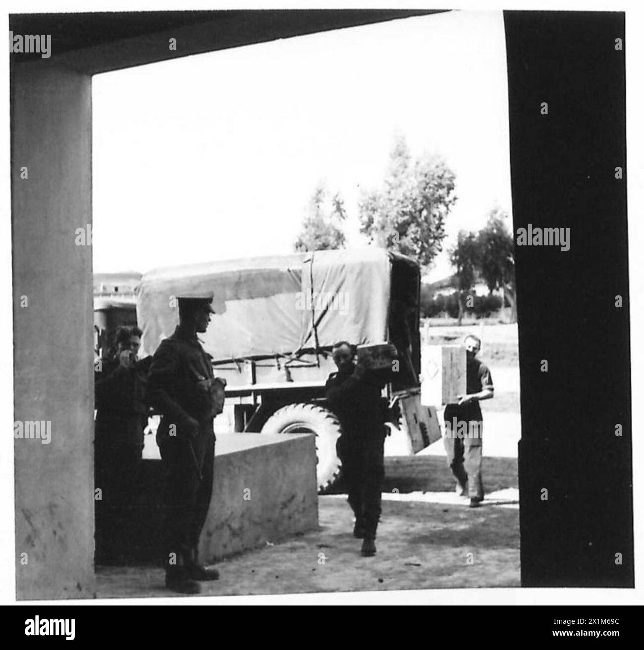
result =
[[[381,343],[387,335],[391,258],[380,248],[161,268],[141,278],[141,354],[154,354],[178,324],[176,297],[212,292],[199,334],[214,361],[290,355],[337,341]]]

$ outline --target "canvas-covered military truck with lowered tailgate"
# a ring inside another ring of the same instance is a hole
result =
[[[392,408],[402,407],[395,425],[413,452],[440,437],[436,411],[419,395],[420,269],[412,259],[366,248],[152,270],[135,291],[141,356],[175,330],[176,296],[195,291],[214,294],[217,315],[200,338],[227,381],[234,430],[315,434],[320,491],[341,467],[341,425],[324,396],[337,341],[395,345],[394,379],[384,390]]]

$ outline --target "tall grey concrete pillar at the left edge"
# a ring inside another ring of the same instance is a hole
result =
[[[14,440],[16,592],[88,597],[92,249],[75,230],[92,220],[91,77],[36,62],[14,65],[11,82],[14,420],[51,421],[49,444]]]

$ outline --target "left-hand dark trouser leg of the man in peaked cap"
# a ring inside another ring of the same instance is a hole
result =
[[[201,481],[188,439],[170,438],[160,451],[166,474],[165,567],[169,568],[189,564]]]

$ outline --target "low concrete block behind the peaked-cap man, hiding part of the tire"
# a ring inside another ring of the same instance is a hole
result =
[[[318,525],[315,437],[217,436],[215,480],[199,554],[212,561]]]

